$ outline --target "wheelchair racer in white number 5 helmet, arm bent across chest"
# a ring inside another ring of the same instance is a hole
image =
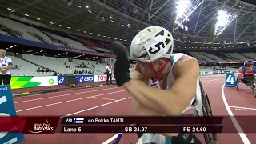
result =
[[[201,98],[197,59],[172,54],[174,38],[165,28],[149,26],[136,34],[130,56],[137,63],[130,75],[126,46],[113,42],[111,47],[117,56],[114,78],[131,94],[135,114],[179,116],[193,104],[195,95]],[[172,144],[201,144],[194,134],[162,135],[171,138]]]

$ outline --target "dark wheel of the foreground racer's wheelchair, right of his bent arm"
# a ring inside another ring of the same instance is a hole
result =
[[[199,82],[199,85],[201,87],[201,94],[202,94],[202,113],[203,113],[203,116],[212,117],[213,113],[212,113],[212,110],[211,110],[208,95],[203,90],[201,82]],[[214,120],[212,120],[211,123],[214,123]],[[203,125],[207,126],[207,124],[205,124],[205,122],[203,122]],[[217,136],[216,133],[204,133],[203,136],[205,138],[206,144],[215,144],[217,139],[218,139],[218,136]]]

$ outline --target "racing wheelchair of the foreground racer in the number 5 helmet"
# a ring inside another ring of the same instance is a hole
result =
[[[199,81],[199,80],[198,80]],[[200,87],[200,92],[201,92],[201,97],[199,98],[194,98],[194,102],[192,106],[190,106],[186,110],[193,109],[194,114],[191,116],[201,116],[201,117],[213,117],[213,113],[210,107],[210,101],[208,98],[208,95],[205,93],[202,87],[202,83],[199,81],[199,87]],[[188,116],[187,114],[183,114],[181,116]],[[203,119],[203,118],[202,118]],[[214,127],[214,118],[212,119],[211,124],[208,124],[206,122],[202,122],[202,126],[213,126]],[[215,144],[216,141],[218,140],[217,133],[203,133],[204,139],[206,144]],[[122,136],[118,136],[116,141],[113,144],[118,144]],[[154,142],[152,140],[154,139]],[[166,143],[166,144],[171,144],[171,142],[167,142],[166,138],[162,134],[142,134],[142,136],[138,139],[137,144],[144,144],[144,143],[155,143],[161,144],[161,143]]]

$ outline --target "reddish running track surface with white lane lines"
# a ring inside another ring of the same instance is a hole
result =
[[[209,75],[201,77],[204,89],[210,98],[214,115],[255,115],[256,99],[248,86],[240,84],[240,91],[234,88],[222,87],[225,75]],[[222,94],[223,88],[223,94]],[[94,98],[92,98],[94,96]],[[224,102],[227,102],[225,105]],[[130,95],[122,87],[103,86],[84,90],[72,90],[51,94],[14,98],[18,115],[132,115]],[[235,107],[249,107],[251,109],[236,110]],[[230,112],[228,113],[228,110]],[[245,128],[242,118],[237,118],[238,125]],[[252,122],[253,123],[253,122]],[[247,123],[247,126],[249,124]],[[234,126],[234,125],[232,125]],[[252,127],[253,128],[253,127]],[[236,131],[236,127],[233,129]],[[202,134],[197,134],[203,142]],[[26,134],[26,141],[22,144],[106,144],[108,139],[113,139],[114,134]],[[218,142],[226,143],[256,143],[256,134],[238,133],[218,134]],[[136,134],[122,134],[121,144],[136,143]],[[111,142],[111,141],[109,141]]]

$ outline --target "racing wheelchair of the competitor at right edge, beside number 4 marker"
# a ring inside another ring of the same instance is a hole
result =
[[[256,94],[255,94],[256,83],[255,83],[255,81],[256,81],[256,75],[255,74],[246,74],[243,79],[238,77],[237,81],[236,81],[236,85],[235,85],[235,90],[238,90],[239,83],[242,82],[246,86],[250,86],[251,90],[253,91],[254,98],[256,98]]]

